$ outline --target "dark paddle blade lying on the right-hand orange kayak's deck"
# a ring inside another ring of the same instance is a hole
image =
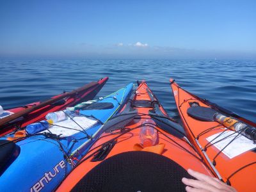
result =
[[[187,113],[189,116],[197,120],[200,120],[203,122],[214,122],[214,115],[218,112],[211,108],[197,106],[197,107],[188,108]]]

